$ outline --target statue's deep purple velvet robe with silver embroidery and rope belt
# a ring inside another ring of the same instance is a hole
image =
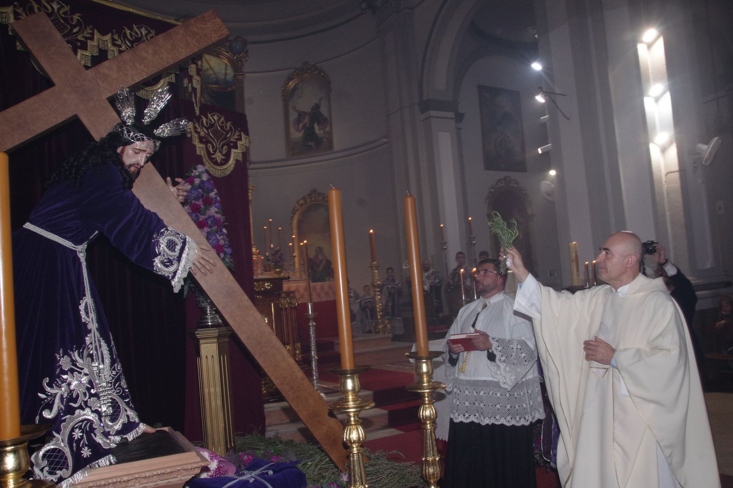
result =
[[[32,470],[64,487],[114,464],[111,448],[145,427],[103,310],[95,307],[86,243],[103,233],[134,263],[170,279],[174,290],[196,245],[122,189],[111,162],[89,169],[79,187],[64,181],[48,189],[28,224],[12,236],[21,421],[53,425],[32,454]]]

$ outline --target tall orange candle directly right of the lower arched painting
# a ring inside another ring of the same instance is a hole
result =
[[[341,212],[341,191],[336,188],[328,190],[328,219],[331,222],[331,252],[334,253],[334,293],[336,294],[336,319],[339,321],[341,367],[342,369],[353,369],[354,345],[351,340],[344,219]]]

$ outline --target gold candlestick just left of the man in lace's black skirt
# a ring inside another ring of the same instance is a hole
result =
[[[432,394],[446,388],[445,383],[432,380],[432,360],[442,356],[441,351],[428,351],[427,356],[419,353],[405,353],[405,356],[415,361],[415,374],[419,378],[415,383],[408,385],[408,391],[415,391],[422,396],[419,410],[422,422],[422,478],[427,488],[438,488],[441,478],[441,455],[435,444],[435,405]]]

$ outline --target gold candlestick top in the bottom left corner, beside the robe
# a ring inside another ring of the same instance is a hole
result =
[[[48,424],[29,424],[21,426],[21,436],[0,440],[0,487],[47,488],[55,487],[51,481],[43,479],[26,480],[23,475],[31,466],[28,456],[28,441],[38,438],[51,429]]]

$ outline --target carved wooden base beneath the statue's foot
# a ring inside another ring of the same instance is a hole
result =
[[[163,445],[164,452],[173,454],[161,456],[157,455],[161,454],[160,452],[153,453],[146,449],[145,441],[150,438],[150,443],[153,443],[153,436],[166,437],[158,444]],[[209,464],[183,435],[170,427],[158,429],[155,434],[143,434],[130,442],[130,444],[133,443],[140,446],[131,446],[132,448],[128,450],[122,447],[120,450],[134,452],[116,453],[116,457],[127,457],[131,459],[130,461],[97,468],[89,473],[89,476],[72,486],[75,488],[181,488]]]

